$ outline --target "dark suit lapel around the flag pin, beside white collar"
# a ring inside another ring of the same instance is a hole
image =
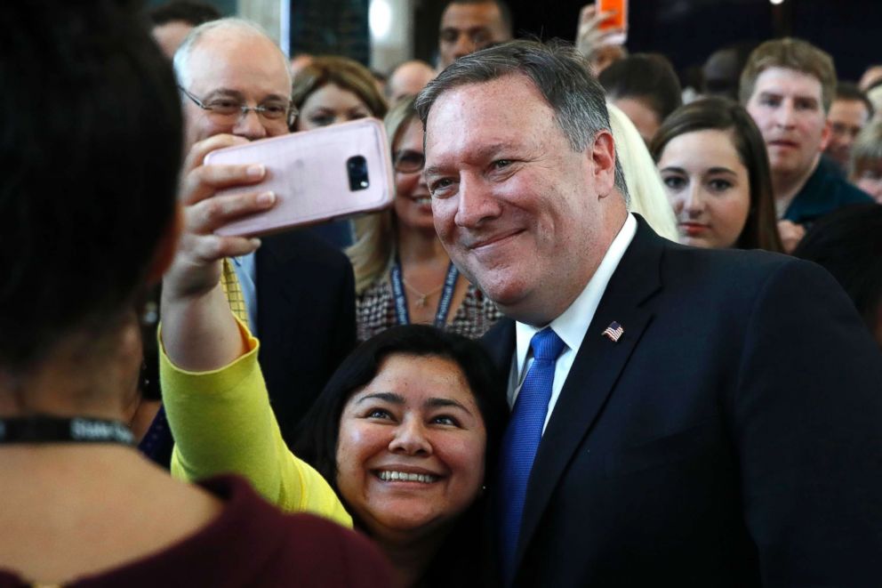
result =
[[[518,566],[558,480],[597,420],[653,318],[645,302],[661,287],[663,241],[642,219],[637,220],[637,234],[606,286],[542,435],[527,487],[518,538]],[[618,342],[603,334],[613,321],[624,328]]]

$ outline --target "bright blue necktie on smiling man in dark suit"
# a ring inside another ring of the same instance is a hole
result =
[[[500,455],[500,554],[505,584],[514,576],[517,536],[524,512],[526,485],[533,469],[533,459],[542,439],[542,426],[548,414],[551,384],[557,356],[564,342],[550,328],[541,330],[530,340],[533,365],[517,394],[509,428],[502,438]]]

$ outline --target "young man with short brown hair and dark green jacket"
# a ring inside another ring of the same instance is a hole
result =
[[[766,141],[778,230],[788,253],[819,216],[870,201],[821,157],[830,141],[827,113],[835,93],[832,58],[800,39],[759,45],[742,72],[739,96]]]

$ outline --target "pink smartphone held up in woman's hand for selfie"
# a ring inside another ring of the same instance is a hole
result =
[[[267,168],[261,183],[218,195],[272,190],[277,196],[272,209],[230,222],[217,235],[265,235],[369,213],[391,205],[395,194],[386,131],[373,118],[218,149],[205,163]]]

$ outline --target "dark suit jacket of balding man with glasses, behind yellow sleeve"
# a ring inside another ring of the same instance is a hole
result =
[[[296,425],[356,344],[349,258],[308,230],[261,239],[255,258],[258,357],[282,436]]]

